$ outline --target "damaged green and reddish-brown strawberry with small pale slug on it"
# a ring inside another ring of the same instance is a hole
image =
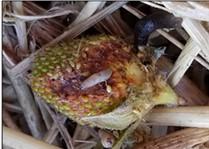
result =
[[[80,45],[79,53],[74,45]],[[155,95],[153,91],[158,87],[154,82],[157,79],[153,66],[150,65],[149,69],[144,66],[152,62],[146,61],[143,55],[142,61],[137,59],[132,48],[122,39],[107,35],[82,38],[82,44],[75,39],[51,47],[35,59],[32,88],[59,112],[79,124],[124,129],[131,121],[123,121],[120,116],[114,116],[115,120],[106,118],[104,124],[103,120],[93,122],[85,118],[112,113],[127,100],[126,105],[138,100],[139,103],[151,101],[150,97]],[[130,96],[133,89],[137,92]]]

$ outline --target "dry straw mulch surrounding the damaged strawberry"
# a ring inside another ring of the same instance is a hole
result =
[[[95,32],[133,41],[127,18],[149,15],[145,8],[183,19],[179,29],[153,33],[173,47],[157,67],[178,94],[177,107],[154,108],[121,142],[117,131],[80,126],[33,94],[28,73],[38,52]],[[2,12],[5,148],[209,148],[209,2],[3,2]]]

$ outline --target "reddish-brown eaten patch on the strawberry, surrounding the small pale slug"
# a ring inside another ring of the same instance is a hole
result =
[[[48,79],[48,87],[62,100],[69,102],[74,114],[79,116],[106,113],[127,96],[128,79],[124,65],[131,59],[131,54],[123,50],[125,43],[108,40],[100,45],[88,45],[81,48],[76,65],[69,69],[59,68],[59,76]],[[94,73],[110,68],[111,77],[106,82],[98,83],[82,90],[81,83]],[[107,84],[111,91],[107,90]],[[108,109],[108,110],[107,110]]]

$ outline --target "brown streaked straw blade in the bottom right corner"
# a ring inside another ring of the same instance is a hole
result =
[[[183,149],[204,143],[209,140],[209,129],[206,128],[188,128],[164,137],[154,139],[142,145],[136,145],[134,149]]]

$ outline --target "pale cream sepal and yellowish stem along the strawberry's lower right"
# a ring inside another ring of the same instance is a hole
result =
[[[107,114],[81,118],[100,128],[123,130],[136,120],[140,121],[147,112],[158,104],[177,104],[177,96],[169,86],[165,86],[157,96],[152,96],[133,89],[134,93],[127,97],[126,102]],[[143,89],[146,90],[146,89]]]

